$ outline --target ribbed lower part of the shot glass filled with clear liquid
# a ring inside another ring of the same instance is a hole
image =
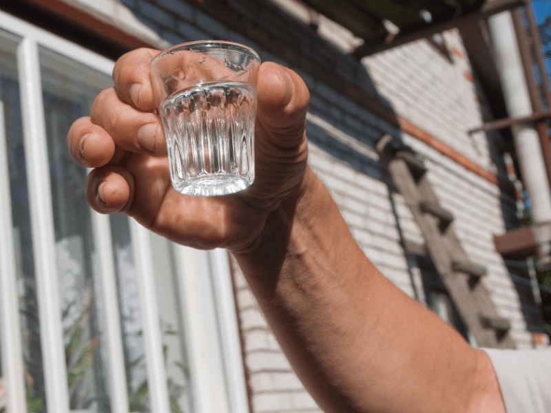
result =
[[[249,187],[256,116],[250,83],[202,83],[169,96],[162,108],[176,190],[213,196]]]

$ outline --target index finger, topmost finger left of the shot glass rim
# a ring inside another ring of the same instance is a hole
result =
[[[155,107],[149,80],[149,63],[159,53],[154,49],[136,49],[123,54],[113,68],[113,81],[120,98],[143,112]]]

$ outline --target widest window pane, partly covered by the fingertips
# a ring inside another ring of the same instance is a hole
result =
[[[74,120],[90,113],[95,96],[112,81],[43,47],[39,54],[69,403],[72,410],[110,412],[101,277],[84,190],[87,171],[71,158],[65,140]]]

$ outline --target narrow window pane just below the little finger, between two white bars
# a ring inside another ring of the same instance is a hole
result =
[[[130,412],[150,412],[140,293],[126,215],[110,217]]]

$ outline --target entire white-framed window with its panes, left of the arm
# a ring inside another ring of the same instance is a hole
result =
[[[65,137],[113,62],[0,22],[0,413],[246,412],[225,252],[87,206]]]

